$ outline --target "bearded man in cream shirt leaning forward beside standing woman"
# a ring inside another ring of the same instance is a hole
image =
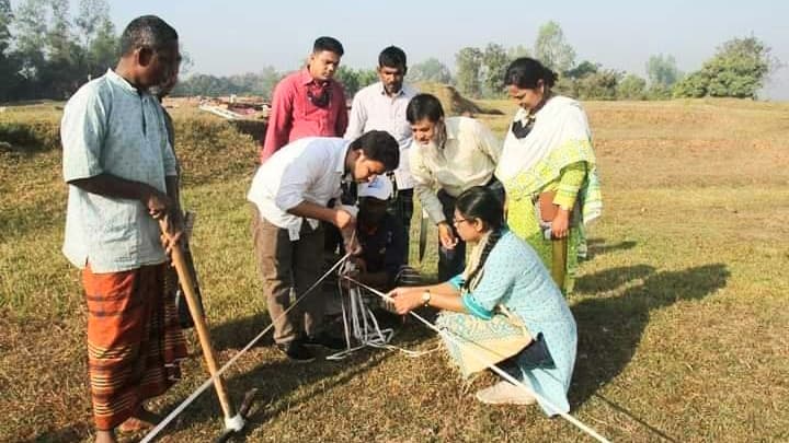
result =
[[[502,144],[478,120],[444,118],[444,108],[431,94],[418,94],[407,109],[413,131],[409,164],[414,190],[431,221],[438,226],[438,279],[462,272],[466,243],[453,222],[455,199],[473,186],[488,186],[504,201],[504,188],[493,172]]]

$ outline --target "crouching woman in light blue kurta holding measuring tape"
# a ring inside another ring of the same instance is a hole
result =
[[[578,333],[559,288],[535,250],[503,221],[502,203],[484,187],[456,202],[458,234],[476,243],[464,273],[431,287],[389,293],[400,314],[425,305],[443,310],[437,325],[455,338],[444,341],[464,376],[496,363],[539,394],[549,416],[570,410]],[[534,404],[525,389],[501,381],[477,393],[485,404]],[[558,409],[558,410],[557,410]]]

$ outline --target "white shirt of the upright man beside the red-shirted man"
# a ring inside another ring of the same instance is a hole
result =
[[[409,149],[411,148],[411,125],[405,118],[405,108],[419,91],[403,84],[393,97],[377,82],[363,88],[356,93],[351,105],[348,127],[345,139],[354,140],[365,132],[381,130],[389,132],[400,145],[400,164],[395,170],[398,189],[411,189],[414,186],[409,167]]]

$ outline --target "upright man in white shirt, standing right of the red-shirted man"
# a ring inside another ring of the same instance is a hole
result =
[[[405,263],[409,259],[409,232],[413,214],[413,178],[408,164],[411,147],[411,125],[405,108],[418,91],[403,84],[408,72],[405,53],[397,46],[385,48],[378,56],[379,82],[356,93],[345,138],[353,140],[369,130],[385,130],[400,145],[400,165],[395,170],[395,198],[392,207],[402,222],[405,238]]]

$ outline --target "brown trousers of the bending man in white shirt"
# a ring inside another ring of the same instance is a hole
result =
[[[320,288],[310,292],[286,315],[291,290],[301,296],[320,277],[323,265],[323,228],[305,220],[299,240],[291,242],[288,231],[270,223],[252,206],[252,240],[258,270],[267,296],[268,315],[274,322],[274,341],[286,343],[321,333],[325,299]]]

